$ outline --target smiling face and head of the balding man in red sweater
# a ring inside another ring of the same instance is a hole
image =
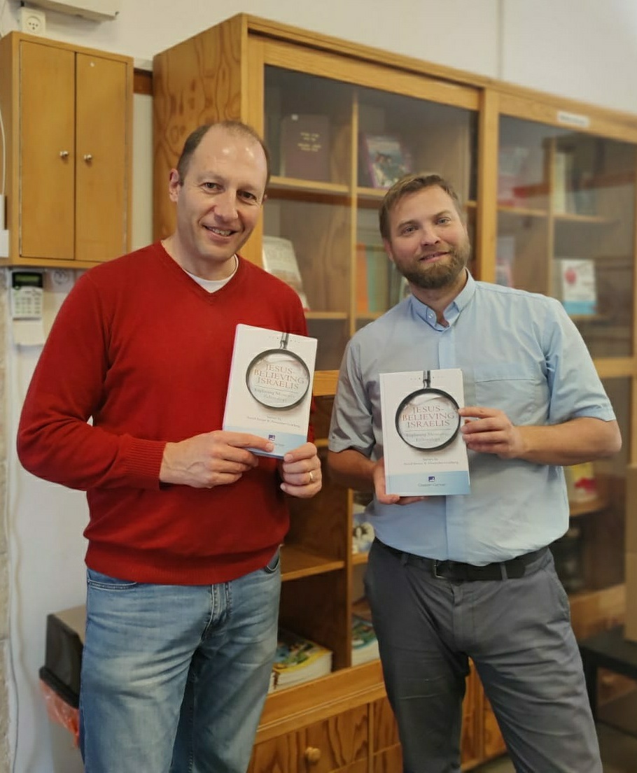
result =
[[[165,242],[171,257],[204,279],[223,279],[234,270],[265,200],[267,161],[247,133],[213,126],[199,142],[186,174],[170,172],[170,199],[177,227]]]

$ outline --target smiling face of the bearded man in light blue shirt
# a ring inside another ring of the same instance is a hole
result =
[[[389,216],[383,240],[398,271],[417,290],[458,291],[471,254],[467,231],[451,196],[439,186],[407,193]]]

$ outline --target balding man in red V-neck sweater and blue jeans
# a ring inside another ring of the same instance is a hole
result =
[[[244,124],[186,140],[172,236],[91,269],[33,375],[18,453],[87,492],[86,773],[243,773],[277,642],[284,495],[321,488],[315,445],[221,430],[235,326],[306,335],[295,291],[239,257],[267,151]],[[89,420],[92,423],[89,424]]]

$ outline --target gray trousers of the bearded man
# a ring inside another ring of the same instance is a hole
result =
[[[470,657],[517,773],[602,773],[568,598],[548,550],[519,579],[450,582],[374,543],[365,587],[405,771],[460,773]]]

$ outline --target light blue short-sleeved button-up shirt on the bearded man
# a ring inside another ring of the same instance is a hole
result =
[[[588,349],[562,305],[476,282],[445,309],[448,327],[411,296],[353,336],[339,375],[329,448],[383,456],[380,373],[462,369],[465,405],[499,408],[513,424],[560,424],[615,414]],[[568,527],[564,470],[468,451],[471,492],[368,516],[384,543],[409,553],[489,564],[536,550]]]

